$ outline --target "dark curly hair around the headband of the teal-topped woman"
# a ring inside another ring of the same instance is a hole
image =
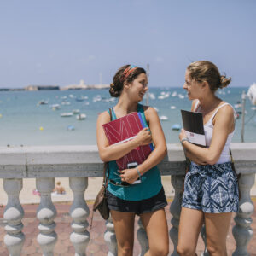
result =
[[[113,83],[110,84],[109,93],[113,97],[119,97],[124,87],[125,81],[131,83],[137,76],[141,73],[146,73],[143,67],[136,67],[125,79],[124,71],[127,67],[131,65],[125,65],[120,67],[117,73],[113,76]]]

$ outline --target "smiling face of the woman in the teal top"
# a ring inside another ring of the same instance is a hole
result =
[[[148,90],[148,77],[145,73],[140,73],[131,84],[129,84],[129,94],[136,102],[141,102],[143,96]]]

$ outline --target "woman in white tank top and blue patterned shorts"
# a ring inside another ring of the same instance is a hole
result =
[[[201,226],[206,225],[210,255],[227,255],[226,237],[232,212],[238,211],[238,184],[230,165],[230,143],[235,131],[234,110],[215,92],[230,84],[210,61],[196,61],[187,67],[185,84],[191,111],[203,115],[207,147],[189,143],[184,131],[179,139],[192,161],[184,181],[177,253],[196,255]]]

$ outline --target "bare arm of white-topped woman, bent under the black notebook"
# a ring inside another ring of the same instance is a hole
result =
[[[199,164],[214,165],[224,148],[227,137],[234,127],[234,113],[230,106],[224,106],[218,110],[214,118],[212,142],[209,148],[201,148],[187,141],[183,142],[183,148],[187,150],[189,159]],[[185,132],[180,133],[180,140],[186,137]]]

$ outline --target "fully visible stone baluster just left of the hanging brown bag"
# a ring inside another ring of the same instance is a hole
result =
[[[70,177],[69,186],[73,190],[73,204],[69,213],[73,222],[71,227],[73,232],[70,234],[70,241],[75,249],[75,256],[85,256],[86,247],[90,241],[90,233],[87,218],[90,210],[84,201],[84,191],[88,187],[88,177]]]

